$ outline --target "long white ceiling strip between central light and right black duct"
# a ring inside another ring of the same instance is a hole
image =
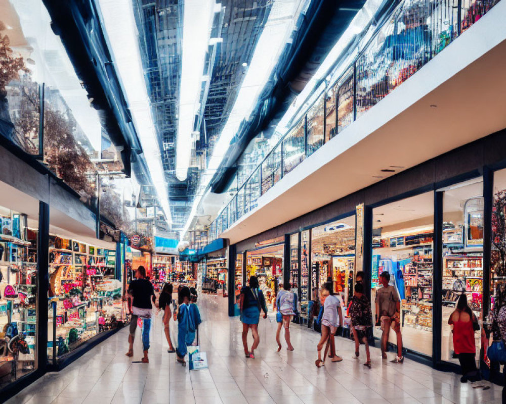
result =
[[[239,129],[240,123],[243,119],[249,118],[257,106],[259,95],[276,66],[285,43],[292,34],[292,30],[301,13],[302,3],[305,2],[301,0],[274,1],[265,27],[255,47],[251,63],[247,68],[246,76],[237,94],[234,107],[213,149],[213,156],[209,161],[207,169],[200,179],[198,195],[195,196],[190,216],[181,233],[181,240],[189,230],[202,195],[218,170],[228,150],[230,141]]]

